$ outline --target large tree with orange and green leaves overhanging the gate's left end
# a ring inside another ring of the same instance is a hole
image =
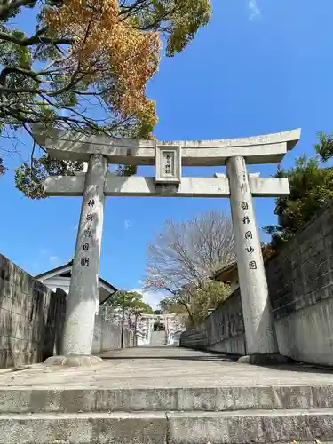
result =
[[[36,11],[33,35],[15,26],[28,9]],[[14,139],[24,129],[33,139],[31,125],[38,123],[45,130],[151,138],[157,115],[146,85],[163,54],[161,36],[170,57],[209,20],[210,0],[4,0],[0,135]],[[30,161],[16,171],[16,186],[29,197],[43,197],[49,174],[82,169],[38,156],[35,148],[33,141]]]

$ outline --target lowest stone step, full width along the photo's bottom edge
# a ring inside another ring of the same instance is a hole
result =
[[[333,441],[333,409],[1,414],[0,444]]]

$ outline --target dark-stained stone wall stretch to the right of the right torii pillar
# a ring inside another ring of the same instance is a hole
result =
[[[266,266],[280,353],[333,365],[333,205]]]

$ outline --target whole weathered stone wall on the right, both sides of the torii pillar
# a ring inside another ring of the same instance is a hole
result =
[[[266,264],[266,276],[279,352],[333,365],[333,203]],[[180,344],[245,354],[240,290]]]

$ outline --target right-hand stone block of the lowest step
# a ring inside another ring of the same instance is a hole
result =
[[[170,444],[249,444],[333,437],[333,409],[168,413]]]

